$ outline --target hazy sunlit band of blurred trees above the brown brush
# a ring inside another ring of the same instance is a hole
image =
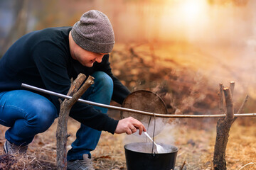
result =
[[[249,0],[1,0],[1,47],[31,30],[73,26],[91,9],[107,14],[117,42],[255,44],[255,2]]]

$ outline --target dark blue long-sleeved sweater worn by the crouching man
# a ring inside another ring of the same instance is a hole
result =
[[[95,62],[93,67],[82,66],[70,55],[70,30],[71,27],[46,28],[28,33],[17,40],[0,60],[0,91],[23,89],[21,83],[24,83],[68,94],[72,77],[75,79],[80,73],[88,77],[93,72],[102,71],[110,75],[114,81],[112,99],[122,103],[129,90],[113,76],[109,55],[105,55],[101,63]],[[52,101],[60,111],[58,97],[41,95]],[[70,117],[96,130],[111,133],[114,133],[118,123],[118,120],[110,118],[92,106],[78,102],[71,109]]]

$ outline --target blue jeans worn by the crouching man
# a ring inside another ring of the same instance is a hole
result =
[[[110,104],[113,93],[113,81],[104,72],[95,72],[95,84],[92,84],[82,98],[97,103]],[[107,113],[107,108],[95,108]],[[50,128],[58,117],[53,103],[47,98],[31,91],[15,90],[0,92],[0,124],[10,127],[6,130],[6,140],[16,145],[28,145],[33,137]],[[68,161],[82,159],[82,154],[89,154],[100,140],[101,132],[80,126],[72,149],[68,151]]]

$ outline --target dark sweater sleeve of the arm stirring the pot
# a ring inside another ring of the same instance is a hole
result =
[[[67,94],[70,89],[68,76],[68,57],[65,51],[50,42],[41,42],[33,48],[33,60],[38,68],[44,86],[50,91],[60,94]],[[58,97],[50,96],[50,100],[60,110]],[[85,103],[75,103],[70,117],[78,120],[90,128],[106,130],[114,133],[118,120],[110,118],[107,114],[101,113],[94,107]]]

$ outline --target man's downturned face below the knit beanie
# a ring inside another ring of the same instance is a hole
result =
[[[71,37],[71,36],[70,36]],[[102,62],[102,57],[107,53],[96,53],[84,50],[82,47],[77,45],[73,38],[70,42],[70,53],[73,59],[78,60],[85,67],[92,67],[95,62]]]

